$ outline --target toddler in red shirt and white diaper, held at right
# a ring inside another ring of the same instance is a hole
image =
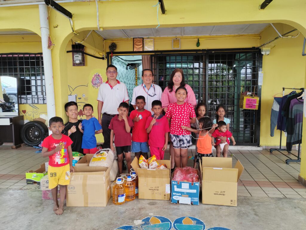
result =
[[[218,121],[217,124],[218,124],[218,128],[215,129],[215,131],[211,135],[212,136],[211,143],[214,143],[215,142],[214,138],[216,138],[215,148],[217,150],[217,157],[220,157],[221,152],[223,154],[223,157],[227,157],[227,151],[230,145],[229,138],[232,140],[233,145],[236,144],[236,141],[232,133],[227,130],[226,123],[224,121]],[[226,141],[223,142],[221,139],[217,138],[217,136],[226,137]]]

